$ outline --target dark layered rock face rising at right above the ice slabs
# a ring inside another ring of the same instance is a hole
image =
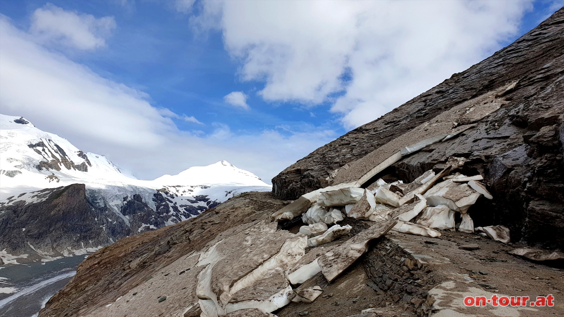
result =
[[[515,241],[564,248],[564,237],[558,235],[564,223],[562,33],[563,9],[490,58],[289,166],[272,179],[275,196],[296,199],[331,185],[336,176],[342,180],[338,175],[343,170],[356,168],[356,161],[400,135],[517,81],[505,95],[509,103],[476,126],[403,157],[377,177],[411,182],[426,170],[442,169],[449,157],[464,157],[461,171],[484,175],[496,197],[479,201],[475,209],[482,212],[475,215],[476,226],[505,223]]]

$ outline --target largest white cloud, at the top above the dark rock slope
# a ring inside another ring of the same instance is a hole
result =
[[[372,121],[500,49],[530,1],[206,1],[245,81],[271,102],[333,104]],[[338,96],[338,97],[335,97]]]

